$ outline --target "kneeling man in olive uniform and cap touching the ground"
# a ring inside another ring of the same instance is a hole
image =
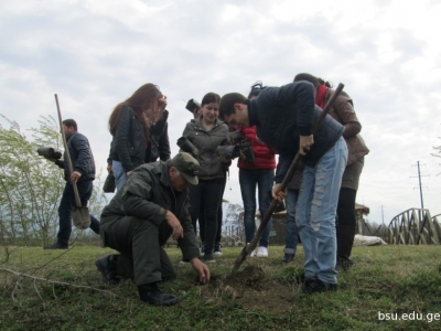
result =
[[[198,162],[180,152],[168,161],[135,169],[121,190],[104,209],[100,236],[105,246],[120,254],[95,261],[107,284],[131,278],[141,301],[170,306],[178,298],[163,293],[157,282],[176,276],[162,246],[170,236],[178,241],[183,259],[190,260],[201,284],[209,270],[200,259],[192,220],[187,212],[190,185],[196,185]]]

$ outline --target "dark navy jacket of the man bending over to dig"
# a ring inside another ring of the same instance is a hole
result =
[[[299,151],[300,136],[312,135],[314,121],[322,114],[314,102],[314,87],[309,82],[266,87],[248,102],[248,114],[250,126],[257,127],[257,137],[279,152],[275,181],[280,183]],[[314,134],[304,164],[314,167],[343,131],[344,127],[327,115]]]

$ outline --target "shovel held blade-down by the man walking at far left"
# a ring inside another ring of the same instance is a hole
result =
[[[64,150],[66,151],[67,166],[69,169],[69,173],[73,173],[74,168],[72,167],[72,160],[67,148],[66,136],[64,135],[63,130],[62,113],[60,110],[58,96],[56,94],[55,94],[55,103],[56,103],[56,109],[58,110],[60,129],[63,136]],[[82,206],[82,201],[79,200],[78,188],[76,186],[76,183],[72,183],[72,186],[74,188],[74,195],[76,203],[76,209],[71,211],[72,221],[76,228],[85,229],[90,226],[89,209],[86,206]]]

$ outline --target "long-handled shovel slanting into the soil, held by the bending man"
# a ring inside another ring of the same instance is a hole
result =
[[[324,107],[322,114],[318,118],[318,120],[314,124],[313,128],[313,134],[315,134],[316,129],[320,127],[321,122],[323,119],[326,117],[327,113],[330,113],[332,105],[334,104],[335,99],[337,98],[338,94],[343,90],[344,85],[342,83],[338,84],[337,88],[335,89],[334,94],[332,95],[331,99],[327,102],[326,106]],[[292,161],[290,168],[288,169],[287,174],[284,175],[284,179],[282,181],[280,191],[284,191],[287,189],[288,183],[292,180],[292,177],[295,173],[297,167],[299,166],[299,162],[301,160],[301,156],[298,152],[295,154],[294,160]],[[271,218],[273,211],[276,210],[277,205],[279,202],[277,199],[272,199],[271,204],[269,205],[269,209],[267,210],[267,213],[265,214],[265,217],[260,222],[260,226],[257,229],[256,235],[254,236],[252,241],[244,247],[244,249],[240,252],[239,256],[236,258],[235,265],[233,266],[232,274],[235,274],[241,264],[245,261],[247,256],[255,250],[257,243],[260,241],[261,235],[263,234],[263,229],[267,226],[269,218]]]

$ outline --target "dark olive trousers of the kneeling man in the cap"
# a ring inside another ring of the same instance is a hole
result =
[[[147,220],[125,216],[101,224],[101,232],[105,244],[121,254],[117,261],[118,276],[132,278],[137,286],[176,276],[168,254],[161,247],[171,235],[165,221],[157,226]]]

